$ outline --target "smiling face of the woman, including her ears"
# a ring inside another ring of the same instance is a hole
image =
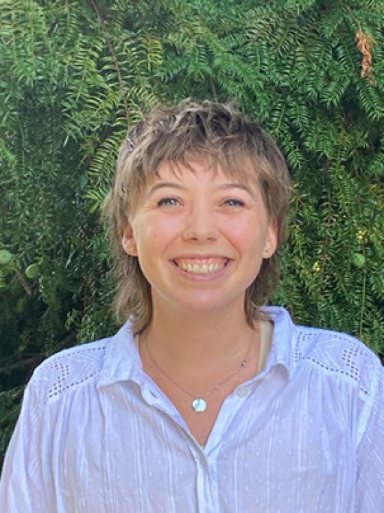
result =
[[[175,173],[163,163],[137,198],[123,247],[139,258],[154,310],[188,314],[243,308],[245,290],[276,249],[256,180],[234,179],[204,162]]]

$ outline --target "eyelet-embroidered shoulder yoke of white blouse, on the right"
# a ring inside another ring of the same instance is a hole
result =
[[[340,376],[359,390],[366,400],[373,400],[383,366],[379,358],[359,339],[342,332],[296,326],[293,365],[312,365],[323,374]]]

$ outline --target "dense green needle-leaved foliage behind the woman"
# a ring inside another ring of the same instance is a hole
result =
[[[159,102],[269,130],[294,186],[274,302],[384,352],[383,2],[2,0],[0,37],[1,454],[34,367],[116,329],[99,212]]]

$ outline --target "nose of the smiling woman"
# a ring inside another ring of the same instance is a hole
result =
[[[218,229],[211,209],[200,202],[189,210],[182,233],[183,240],[206,242],[216,240]]]

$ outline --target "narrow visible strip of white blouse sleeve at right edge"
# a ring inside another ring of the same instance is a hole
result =
[[[357,449],[356,512],[384,512],[384,367],[372,380],[375,389]],[[375,383],[376,382],[376,383]]]

